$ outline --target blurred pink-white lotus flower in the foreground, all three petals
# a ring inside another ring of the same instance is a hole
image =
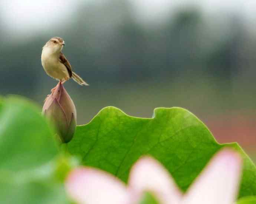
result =
[[[131,169],[128,188],[109,173],[81,167],[69,174],[66,189],[78,204],[137,204],[145,191],[161,204],[233,204],[241,169],[242,159],[236,152],[221,150],[182,195],[159,162],[142,157]]]

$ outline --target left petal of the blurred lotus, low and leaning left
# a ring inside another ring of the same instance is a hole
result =
[[[128,204],[129,201],[121,180],[89,167],[73,170],[66,180],[66,189],[78,204]]]

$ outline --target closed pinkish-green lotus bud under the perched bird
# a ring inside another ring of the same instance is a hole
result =
[[[69,142],[76,129],[76,108],[61,82],[48,95],[43,105],[43,114],[56,126],[61,142]]]

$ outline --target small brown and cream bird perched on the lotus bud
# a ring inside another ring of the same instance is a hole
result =
[[[59,80],[62,84],[72,78],[79,85],[88,85],[83,79],[72,71],[71,65],[62,48],[65,41],[60,37],[52,37],[43,46],[41,62],[46,74]],[[52,89],[53,92],[54,88]]]

